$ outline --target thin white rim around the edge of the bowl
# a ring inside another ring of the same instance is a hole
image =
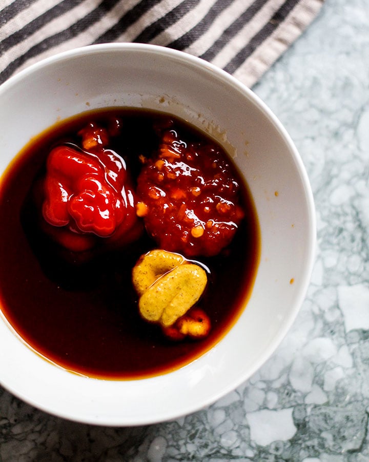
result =
[[[16,86],[19,82],[23,79],[28,78],[33,73],[53,65],[54,63],[69,60],[74,57],[78,57],[81,55],[88,55],[88,54],[95,54],[101,53],[106,51],[137,51],[137,52],[149,52],[149,53],[157,53],[160,55],[166,55],[169,58],[179,60],[185,62],[187,65],[193,67],[206,67],[209,71],[211,71],[216,78],[225,82],[227,85],[231,85],[234,88],[238,89],[242,94],[245,95],[249,100],[251,100],[252,104],[261,111],[264,116],[269,119],[269,121],[274,125],[274,127],[279,132],[279,135],[284,140],[286,145],[289,146],[291,153],[294,157],[294,161],[296,163],[297,169],[300,174],[301,182],[303,184],[304,192],[305,192],[305,199],[307,204],[307,211],[308,211],[308,222],[309,222],[309,230],[308,230],[308,243],[310,246],[310,252],[308,253],[309,259],[305,261],[304,271],[301,275],[301,282],[299,284],[299,291],[295,297],[295,305],[294,310],[291,310],[289,313],[288,318],[285,319],[285,323],[283,325],[283,329],[281,329],[278,337],[274,339],[273,342],[270,342],[270,345],[267,349],[265,349],[264,354],[255,361],[255,365],[251,370],[243,371],[243,373],[239,374],[237,381],[232,381],[229,383],[227,387],[223,387],[222,389],[218,389],[217,392],[212,393],[209,395],[208,399],[203,400],[201,405],[197,402],[193,402],[189,404],[185,410],[178,411],[176,408],[168,408],[166,410],[162,410],[160,415],[139,415],[136,417],[135,420],[125,419],[125,416],[119,417],[111,417],[111,416],[100,416],[97,417],[95,415],[71,415],[70,412],[63,412],[60,409],[51,409],[50,406],[45,405],[43,402],[39,402],[37,399],[33,399],[30,396],[27,396],[26,393],[23,393],[19,390],[13,389],[9,387],[7,383],[3,383],[2,377],[0,377],[0,383],[2,386],[7,389],[10,393],[17,396],[18,398],[22,399],[23,401],[29,403],[30,405],[41,409],[47,413],[56,415],[58,417],[66,418],[69,420],[75,420],[78,422],[84,422],[86,424],[93,424],[93,425],[105,425],[105,426],[137,426],[137,425],[149,425],[155,424],[161,421],[171,420],[175,418],[182,417],[184,415],[191,414],[201,408],[211,405],[227,393],[235,390],[241,383],[245,380],[250,378],[260,367],[261,365],[267,361],[274,351],[277,349],[278,345],[285,337],[286,333],[290,330],[293,322],[296,319],[296,316],[300,310],[300,306],[304,300],[306,291],[308,290],[308,286],[310,283],[310,278],[313,270],[313,265],[315,261],[315,253],[316,253],[316,216],[315,216],[315,207],[314,207],[314,198],[313,193],[311,190],[308,174],[305,170],[303,165],[302,159],[286,129],[283,127],[279,119],[276,115],[272,112],[272,110],[247,86],[242,84],[236,78],[234,78],[231,74],[227,73],[226,71],[220,69],[219,67],[202,60],[197,56],[193,56],[191,54],[174,50],[167,47],[151,45],[151,44],[140,44],[140,43],[109,43],[109,44],[95,44],[95,45],[88,45],[83,47],[74,48],[72,50],[63,51],[61,53],[57,53],[55,55],[46,57],[45,59],[34,63],[23,70],[20,70],[13,76],[11,76],[7,81],[5,81],[2,85],[0,85],[0,94],[3,92],[8,91],[11,87]],[[168,375],[168,374],[167,374]],[[91,379],[87,379],[91,380]],[[98,379],[97,379],[98,380]],[[143,379],[143,380],[151,380],[151,379]],[[125,382],[125,381],[123,381]]]

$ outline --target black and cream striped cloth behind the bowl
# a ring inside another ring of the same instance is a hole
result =
[[[324,0],[0,0],[0,83],[60,51],[141,42],[186,51],[252,86]]]

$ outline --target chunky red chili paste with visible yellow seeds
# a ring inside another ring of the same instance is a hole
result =
[[[216,143],[183,141],[173,121],[157,125],[159,149],[137,179],[138,215],[158,247],[214,256],[244,217],[234,168]]]

